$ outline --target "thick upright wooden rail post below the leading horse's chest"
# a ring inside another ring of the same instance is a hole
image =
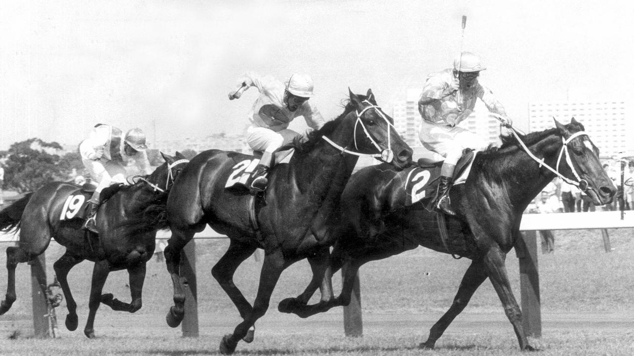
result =
[[[522,232],[515,243],[519,258],[520,288],[522,298],[522,327],[529,336],[541,338],[540,274],[537,263],[537,233]]]

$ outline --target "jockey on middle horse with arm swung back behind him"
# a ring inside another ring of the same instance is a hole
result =
[[[295,73],[288,82],[266,75],[246,73],[238,82],[239,88],[229,93],[229,99],[237,99],[242,91],[257,87],[259,97],[249,112],[251,124],[247,128],[247,143],[254,151],[262,151],[262,158],[249,178],[249,186],[255,191],[264,191],[268,184],[266,174],[273,162],[273,153],[286,144],[293,142],[301,134],[287,129],[288,124],[303,116],[311,129],[318,130],[325,120],[317,107],[309,101],[314,96],[313,80],[306,74]]]

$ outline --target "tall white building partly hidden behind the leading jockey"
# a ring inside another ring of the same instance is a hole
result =
[[[392,118],[394,118],[394,128],[398,131],[405,142],[411,147],[422,146],[418,139],[418,129],[420,128],[420,113],[418,113],[418,97],[422,89],[408,89],[406,98],[392,102]],[[467,120],[459,124],[467,130],[486,137],[489,143],[500,143],[500,122],[488,115],[489,110],[482,101],[478,100],[475,110]],[[505,132],[506,133],[506,132]]]

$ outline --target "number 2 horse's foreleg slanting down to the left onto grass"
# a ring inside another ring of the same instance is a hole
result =
[[[460,287],[458,287],[458,292],[456,296],[453,298],[453,303],[447,312],[443,314],[443,316],[432,326],[429,331],[429,337],[427,341],[421,343],[419,345],[420,348],[434,348],[436,345],[436,340],[440,338],[447,327],[451,324],[453,319],[467,307],[469,300],[474,295],[475,290],[484,282],[487,274],[484,269],[484,265],[481,261],[472,262],[465,272],[465,275],[462,277],[462,281],[460,282]]]

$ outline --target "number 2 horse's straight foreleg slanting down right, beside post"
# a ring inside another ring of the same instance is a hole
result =
[[[500,297],[508,320],[513,324],[520,349],[528,351],[538,350],[529,345],[526,332],[524,332],[524,327],[522,327],[522,310],[515,300],[510,282],[508,281],[507,267],[504,262],[505,257],[505,254],[498,246],[491,248],[486,255],[484,255],[484,267],[486,268],[489,279],[491,279],[493,288],[495,288],[496,293],[498,293]]]

